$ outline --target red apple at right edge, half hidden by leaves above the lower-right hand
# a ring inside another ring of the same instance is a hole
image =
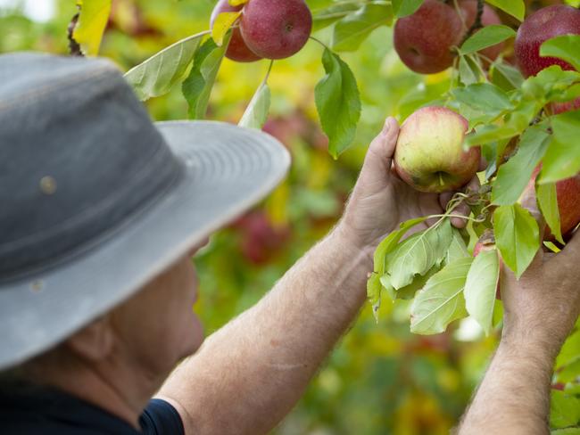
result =
[[[521,195],[521,198],[529,196],[534,201],[535,199],[535,178],[540,173],[542,165],[534,168],[532,178],[526,185],[526,189]],[[559,210],[559,225],[562,232],[562,237],[566,240],[580,224],[580,173],[576,176],[571,176],[564,180],[556,182],[556,198],[558,200]],[[546,227],[543,240],[554,241],[554,236],[551,234],[550,228]]]

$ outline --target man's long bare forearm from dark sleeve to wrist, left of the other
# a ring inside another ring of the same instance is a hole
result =
[[[294,406],[366,296],[369,252],[337,227],[255,307],[211,335],[162,389],[195,433],[269,431]]]

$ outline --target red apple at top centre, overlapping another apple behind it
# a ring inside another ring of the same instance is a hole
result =
[[[253,53],[285,59],[308,41],[312,14],[304,0],[250,0],[244,6],[240,29]]]

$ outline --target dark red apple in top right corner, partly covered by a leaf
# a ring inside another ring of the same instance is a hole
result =
[[[580,10],[566,4],[544,7],[526,18],[519,26],[514,52],[524,76],[534,76],[551,65],[574,70],[572,65],[554,57],[541,57],[540,45],[559,35],[580,35]]]

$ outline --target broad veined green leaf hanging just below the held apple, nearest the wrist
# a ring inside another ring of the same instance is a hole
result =
[[[435,264],[441,264],[452,242],[449,219],[431,226],[407,240],[387,255],[385,273],[394,289],[401,289],[413,281],[415,275],[425,275]]]

